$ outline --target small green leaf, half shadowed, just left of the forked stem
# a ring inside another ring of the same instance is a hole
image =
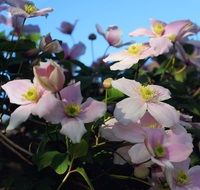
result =
[[[69,164],[70,161],[68,156],[66,154],[60,153],[54,157],[51,167],[57,174],[64,174],[67,171]]]

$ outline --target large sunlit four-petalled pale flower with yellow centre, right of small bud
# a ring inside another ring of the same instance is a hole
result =
[[[170,91],[158,85],[141,85],[135,80],[121,78],[112,81],[112,86],[128,96],[116,104],[115,118],[124,125],[137,122],[146,111],[163,127],[176,126],[179,113],[162,101],[171,98]]]

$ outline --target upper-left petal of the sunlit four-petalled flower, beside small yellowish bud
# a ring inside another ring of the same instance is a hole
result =
[[[112,87],[116,88],[127,96],[139,97],[138,89],[141,87],[141,84],[135,80],[122,77],[118,80],[113,80]]]

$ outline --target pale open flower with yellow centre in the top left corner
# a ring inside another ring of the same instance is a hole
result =
[[[8,11],[12,16],[19,16],[23,18],[47,16],[52,12],[52,8],[44,8],[38,10],[34,3],[27,0],[5,0],[6,4],[10,5]]]

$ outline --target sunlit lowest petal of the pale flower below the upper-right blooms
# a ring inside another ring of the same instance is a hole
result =
[[[116,71],[116,70],[125,70],[131,68],[134,64],[138,63],[139,59],[134,58],[134,57],[127,57],[124,58],[123,60],[114,63],[113,65],[110,66],[110,70]]]

